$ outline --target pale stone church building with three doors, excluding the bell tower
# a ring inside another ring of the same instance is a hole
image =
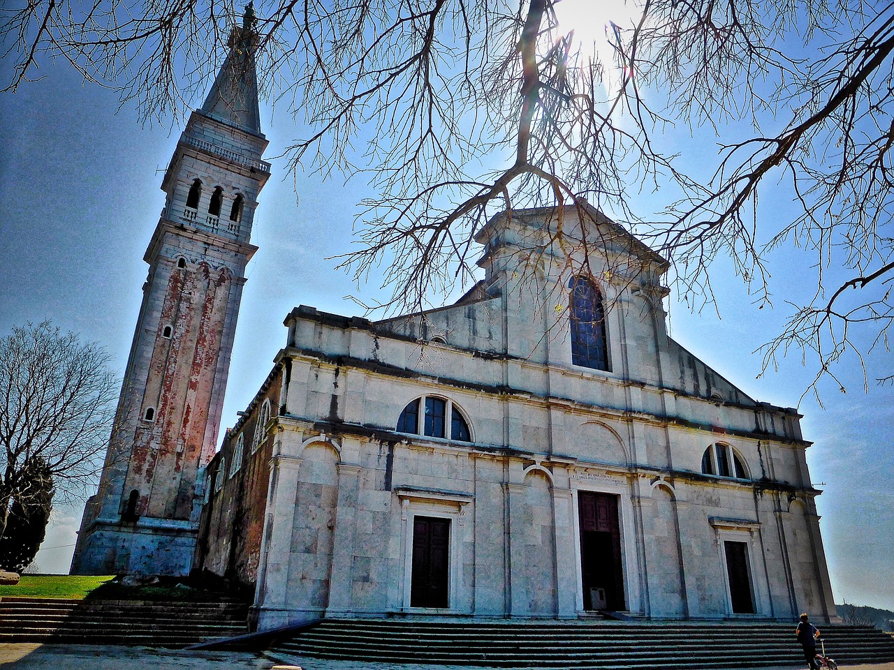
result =
[[[455,305],[300,306],[207,466],[194,569],[307,616],[835,617],[799,415],[665,329],[667,264],[594,209],[498,214]],[[573,245],[572,245],[573,246]],[[579,245],[578,245],[579,246]]]

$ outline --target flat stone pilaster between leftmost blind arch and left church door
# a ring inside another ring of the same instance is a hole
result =
[[[362,469],[360,465],[338,464],[338,503],[335,507],[327,616],[346,614],[353,609],[354,532],[357,530],[357,498]]]

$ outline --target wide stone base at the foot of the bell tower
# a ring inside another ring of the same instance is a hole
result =
[[[197,531],[186,521],[142,518],[135,523],[97,519],[82,529],[72,574],[190,574]]]

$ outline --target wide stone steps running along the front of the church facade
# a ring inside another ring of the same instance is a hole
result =
[[[820,626],[843,664],[894,661],[894,638],[868,626]],[[524,668],[804,666],[795,624],[726,622],[475,622],[325,619],[269,650],[378,663]]]

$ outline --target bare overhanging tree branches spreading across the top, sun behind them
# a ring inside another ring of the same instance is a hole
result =
[[[815,290],[790,305],[763,348],[765,369],[795,349],[811,357],[815,388],[836,379],[841,356],[862,355],[855,330],[871,333],[869,350],[886,349],[894,4],[639,0],[631,20],[606,30],[610,56],[562,29],[559,6],[259,3],[267,90],[312,128],[289,147],[291,169],[368,171],[379,194],[342,260],[358,279],[384,264],[383,307],[419,309],[468,281],[474,234],[496,211],[586,199],[671,261],[694,308],[713,300],[719,257],[765,306],[772,252],[805,250]],[[236,21],[229,0],[21,0],[3,11],[6,55],[17,59],[9,89],[61,56],[135,99],[146,119],[184,108]],[[665,136],[681,127],[731,137],[699,156],[711,169],[679,169]],[[758,205],[771,184],[797,207],[788,220]],[[668,205],[640,211],[637,195],[658,188]],[[600,253],[598,242],[560,226],[551,251],[586,273],[572,255]],[[829,272],[840,268],[843,280]]]

